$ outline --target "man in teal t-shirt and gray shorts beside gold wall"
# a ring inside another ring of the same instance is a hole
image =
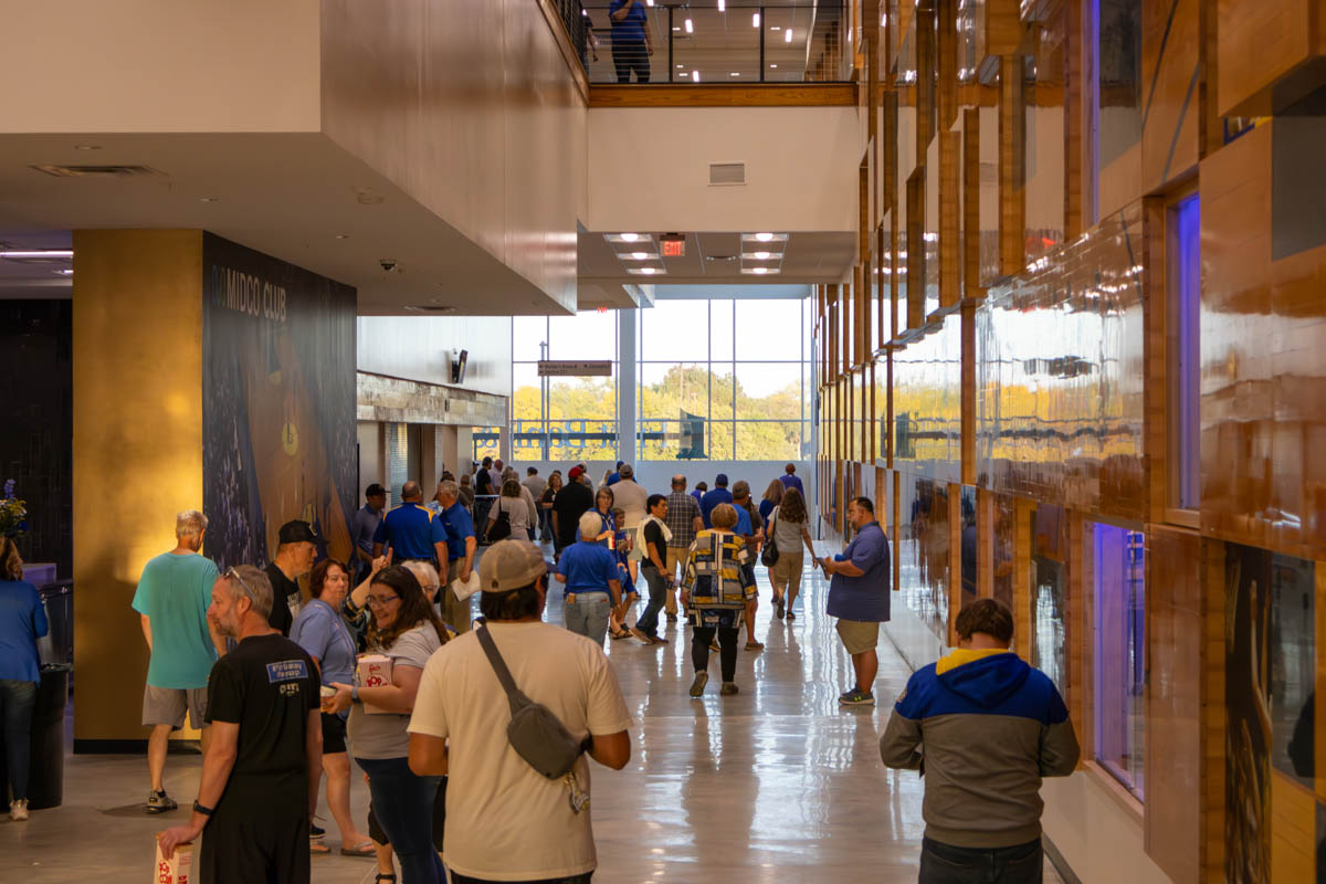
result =
[[[152,729],[147,738],[147,771],[152,779],[149,814],[178,807],[166,794],[162,775],[170,733],[184,726],[186,712],[192,726],[202,729],[207,753],[207,677],[225,645],[207,620],[217,574],[212,559],[198,553],[206,531],[207,517],[198,510],[176,516],[175,549],[143,567],[134,594],[134,610],[142,618],[151,653],[143,689],[143,725]]]

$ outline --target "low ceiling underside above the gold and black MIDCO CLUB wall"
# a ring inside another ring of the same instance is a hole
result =
[[[78,179],[30,168],[88,163],[147,166],[160,174]],[[0,138],[0,240],[69,248],[69,231],[95,228],[211,231],[355,286],[366,315],[403,314],[407,305],[426,304],[472,315],[562,311],[318,134]],[[385,272],[382,260],[395,261],[396,270]],[[48,276],[66,282],[49,268],[0,260],[0,297],[49,297]]]

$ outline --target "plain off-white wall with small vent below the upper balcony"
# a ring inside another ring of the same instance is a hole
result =
[[[857,229],[855,107],[595,107],[591,231]],[[709,163],[744,162],[744,187]]]

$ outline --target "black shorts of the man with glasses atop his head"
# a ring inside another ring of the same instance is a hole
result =
[[[198,879],[211,884],[309,884],[309,818],[221,812],[203,830]],[[305,814],[308,811],[305,810]]]

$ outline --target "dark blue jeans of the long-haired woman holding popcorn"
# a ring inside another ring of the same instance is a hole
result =
[[[400,857],[403,884],[443,884],[447,873],[432,847],[432,802],[440,777],[415,777],[404,758],[355,758],[369,774],[373,814]]]

